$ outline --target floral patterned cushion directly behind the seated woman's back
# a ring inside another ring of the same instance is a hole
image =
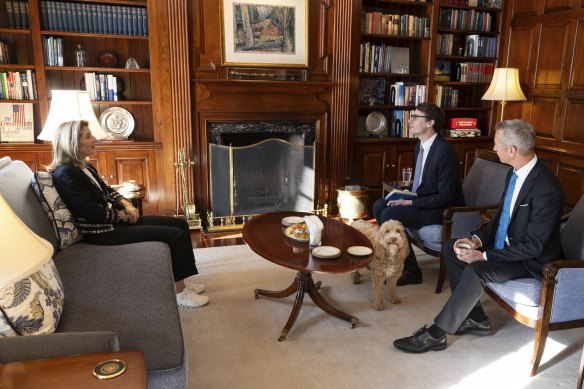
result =
[[[75,225],[73,215],[61,200],[53,183],[53,176],[47,172],[35,172],[31,185],[53,225],[59,249],[80,241],[81,232]]]

